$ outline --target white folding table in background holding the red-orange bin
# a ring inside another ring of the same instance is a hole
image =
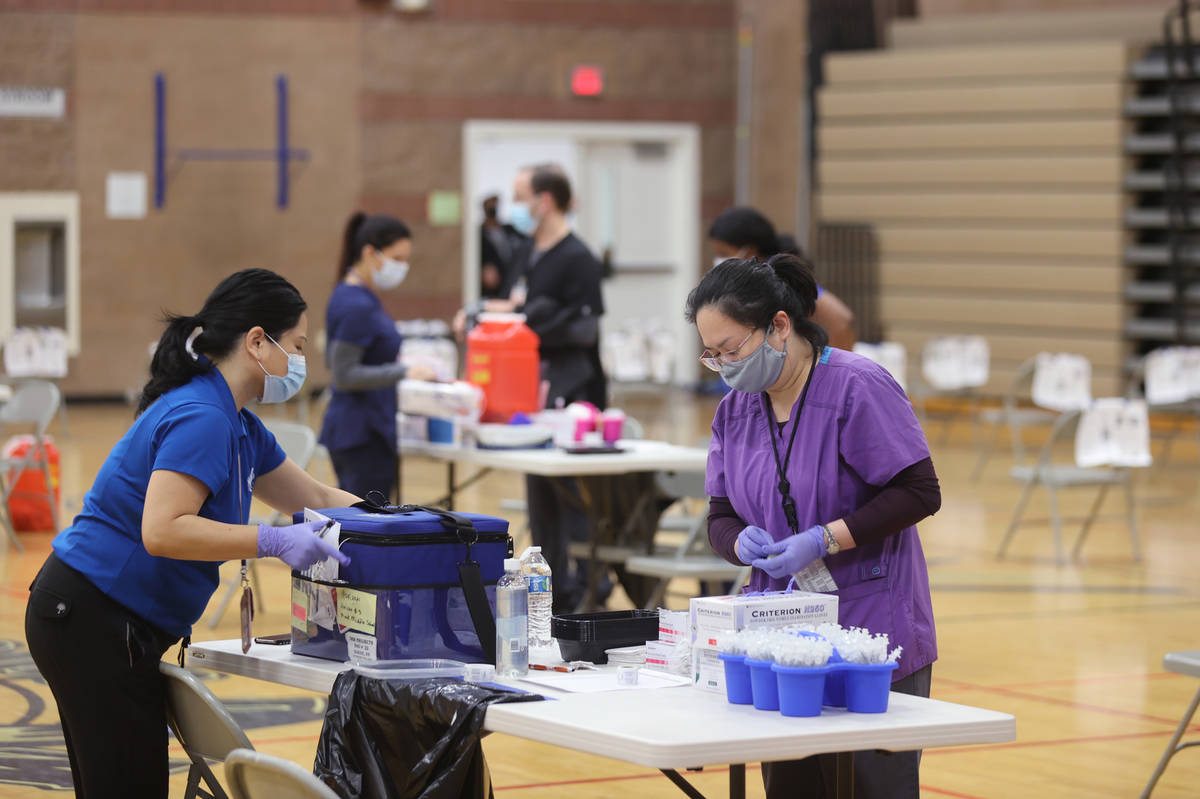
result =
[[[617,441],[617,449],[620,451],[578,455],[559,447],[487,450],[449,444],[401,441],[401,450],[406,456],[425,456],[446,464],[446,493],[430,504],[448,510],[454,510],[455,494],[458,491],[473,485],[492,469],[520,471],[542,477],[575,479],[580,489],[578,497],[564,495],[564,500],[581,505],[592,525],[589,535],[592,552],[588,559],[584,609],[592,609],[596,603],[596,587],[600,581],[596,548],[606,541],[610,531],[616,534],[618,529],[616,519],[606,518],[601,510],[611,506],[608,497],[604,493],[607,489],[606,483],[598,483],[589,489],[584,479],[640,471],[698,471],[703,474],[708,464],[708,450],[698,446],[679,446],[646,439],[622,439]],[[462,482],[456,482],[456,467],[458,464],[476,467],[478,471]],[[593,495],[598,492],[599,495]],[[564,494],[566,493],[569,492],[564,492]],[[630,509],[629,518],[638,518],[640,512],[646,507],[643,503],[652,500],[653,495],[649,494],[640,497],[635,507]]]

